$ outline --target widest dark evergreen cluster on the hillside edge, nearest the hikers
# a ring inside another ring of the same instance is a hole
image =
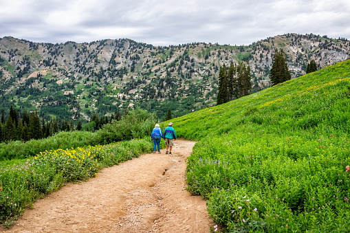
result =
[[[225,64],[220,67],[217,105],[247,96],[251,90],[249,64],[231,63],[228,69]]]

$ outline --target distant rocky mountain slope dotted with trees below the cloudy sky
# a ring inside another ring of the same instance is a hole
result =
[[[131,39],[34,43],[0,38],[0,108],[38,109],[41,116],[89,120],[141,107],[164,117],[216,102],[219,67],[249,62],[252,90],[270,86],[274,49],[283,49],[292,77],[307,63],[323,68],[349,58],[350,42],[285,34],[248,46],[188,43],[156,47]]]

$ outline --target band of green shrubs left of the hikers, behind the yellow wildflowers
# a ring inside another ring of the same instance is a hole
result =
[[[102,129],[95,131],[95,133],[91,133],[90,131],[61,131],[45,139],[1,143],[0,161],[6,159],[24,159],[45,150],[76,148],[78,146],[83,147],[131,140],[136,137],[142,138],[150,135],[156,122],[157,118],[155,115],[145,110],[136,109],[129,111],[119,121],[112,120],[111,124],[103,125]],[[88,124],[88,126],[94,127],[94,123],[91,122],[91,125]]]

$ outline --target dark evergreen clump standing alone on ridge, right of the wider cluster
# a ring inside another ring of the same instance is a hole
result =
[[[286,59],[287,55],[283,49],[281,49],[279,52],[278,49],[274,49],[274,61],[272,63],[272,68],[270,69],[270,81],[272,86],[292,78]]]

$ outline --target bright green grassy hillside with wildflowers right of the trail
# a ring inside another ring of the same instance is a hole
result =
[[[349,232],[350,60],[173,119],[188,190],[230,232]]]

